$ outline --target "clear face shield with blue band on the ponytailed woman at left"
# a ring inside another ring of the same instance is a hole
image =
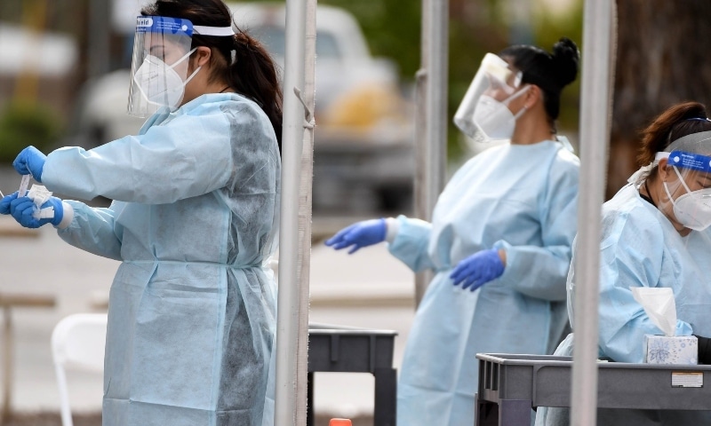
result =
[[[167,107],[181,105],[185,86],[200,71],[188,75],[193,34],[234,36],[231,27],[193,26],[189,20],[163,16],[139,16],[133,43],[128,114],[147,117]]]

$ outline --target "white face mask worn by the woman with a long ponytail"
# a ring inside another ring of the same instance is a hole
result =
[[[174,68],[188,59],[194,51],[196,49],[188,51],[172,65],[166,64],[156,56],[148,55],[133,75],[133,81],[138,85],[141,96],[152,105],[168,106],[171,109],[179,106],[185,94],[185,85],[200,71],[201,67],[197,67],[185,81]]]

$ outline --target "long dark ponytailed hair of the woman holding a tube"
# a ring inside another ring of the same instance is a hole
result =
[[[193,25],[236,27],[232,13],[222,0],[156,0],[140,12],[190,20]],[[194,34],[191,48],[205,46],[212,50],[210,81],[214,81],[216,75],[227,75],[230,88],[261,106],[274,127],[281,152],[283,99],[275,62],[259,41],[242,30],[236,33],[232,37]]]

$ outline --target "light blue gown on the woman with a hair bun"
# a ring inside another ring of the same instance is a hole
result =
[[[398,217],[388,249],[435,277],[406,344],[397,424],[474,424],[477,352],[555,349],[567,325],[578,177],[578,158],[558,142],[492,147],[451,177],[431,224]],[[503,275],[475,292],[455,287],[452,268],[486,248],[506,250]]]

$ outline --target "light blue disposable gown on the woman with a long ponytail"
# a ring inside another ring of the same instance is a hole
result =
[[[60,237],[120,260],[111,286],[104,425],[262,424],[276,329],[280,157],[266,114],[210,94],[138,136],[47,156],[68,201]],[[273,393],[273,392],[272,392]]]

